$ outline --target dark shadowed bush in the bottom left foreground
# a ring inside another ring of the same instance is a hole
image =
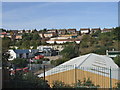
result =
[[[7,84],[8,88],[50,88],[47,81],[38,78],[33,73],[16,72]]]

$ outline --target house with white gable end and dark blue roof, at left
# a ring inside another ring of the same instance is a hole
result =
[[[31,58],[37,52],[38,49],[10,49],[8,50],[8,53],[10,54],[8,60],[14,60],[16,58]]]

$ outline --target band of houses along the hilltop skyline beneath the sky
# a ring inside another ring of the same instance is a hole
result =
[[[9,37],[12,40],[21,40],[22,35],[24,33],[38,33],[39,37],[45,40],[47,44],[63,44],[67,42],[76,42],[80,43],[82,39],[82,35],[84,34],[92,34],[96,31],[101,31],[101,33],[105,32],[111,32],[114,28],[80,28],[79,31],[76,29],[44,29],[37,31],[34,30],[3,30],[3,32],[0,33],[0,37]]]

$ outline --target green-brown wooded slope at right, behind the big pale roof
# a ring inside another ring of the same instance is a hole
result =
[[[80,54],[97,53],[106,54],[106,50],[120,50],[120,27],[111,32],[101,33],[97,31],[90,35],[84,35],[80,44]]]

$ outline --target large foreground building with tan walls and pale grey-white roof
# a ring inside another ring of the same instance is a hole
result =
[[[110,88],[110,80],[112,87],[120,81],[119,73],[118,65],[111,58],[90,53],[68,60],[46,71],[45,74],[39,74],[38,77],[45,75],[50,86],[56,80],[71,85],[78,80],[84,81],[85,78],[89,78],[100,88]]]

